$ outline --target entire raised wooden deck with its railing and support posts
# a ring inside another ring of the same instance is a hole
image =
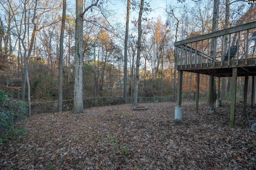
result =
[[[250,37],[252,37],[252,34],[255,31],[256,21],[174,43],[176,53],[176,69],[178,70],[178,92],[177,107],[175,108],[175,119],[179,119],[179,117],[183,118],[183,115],[179,115],[180,113],[183,114],[183,71],[197,73],[196,113],[198,113],[200,74],[210,75],[210,112],[214,112],[214,100],[212,97],[214,96],[214,77],[231,77],[230,127],[234,127],[237,77],[244,76],[245,85],[243,114],[245,115],[248,76],[252,76],[252,94],[254,94],[254,76],[256,76],[256,39],[252,39]],[[224,41],[225,39],[226,41]],[[228,43],[225,45],[225,42]],[[227,51],[231,46],[234,45],[237,47],[237,51],[234,57],[230,58],[230,51]],[[228,61],[224,61],[224,57],[228,57]],[[251,100],[252,106],[254,101],[253,95]]]

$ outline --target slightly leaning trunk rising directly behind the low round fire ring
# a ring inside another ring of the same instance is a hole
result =
[[[136,59],[136,71],[135,71],[135,83],[134,83],[134,94],[133,94],[133,105],[138,105],[138,88],[139,88],[139,78],[140,78],[140,50],[141,50],[141,22],[142,22],[142,12],[143,12],[144,0],[140,1],[140,12],[138,19],[138,45],[137,45],[137,59]]]

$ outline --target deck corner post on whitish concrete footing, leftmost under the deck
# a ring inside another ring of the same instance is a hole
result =
[[[175,107],[175,115],[174,119],[183,119],[183,107],[181,107],[182,101],[182,78],[183,78],[183,71],[178,70],[178,86],[177,86],[177,106]]]

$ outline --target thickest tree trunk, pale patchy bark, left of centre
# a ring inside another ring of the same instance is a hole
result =
[[[76,43],[75,43],[75,84],[74,112],[84,113],[83,106],[83,0],[76,0]]]

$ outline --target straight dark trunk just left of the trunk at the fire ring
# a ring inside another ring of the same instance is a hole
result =
[[[126,28],[124,40],[124,102],[127,103],[127,45],[129,30],[130,0],[127,0]]]

